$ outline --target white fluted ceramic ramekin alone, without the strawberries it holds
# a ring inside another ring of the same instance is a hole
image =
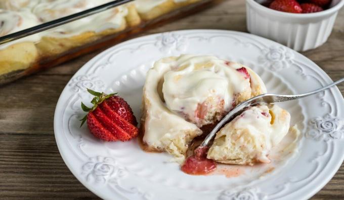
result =
[[[316,48],[331,34],[344,0],[333,0],[331,8],[310,14],[275,11],[254,0],[246,0],[246,23],[250,33],[272,39],[296,51]]]

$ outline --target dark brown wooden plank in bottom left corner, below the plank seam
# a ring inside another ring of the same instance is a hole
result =
[[[0,138],[1,199],[98,199],[70,173],[52,131]]]

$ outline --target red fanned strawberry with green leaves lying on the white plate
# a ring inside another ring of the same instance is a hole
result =
[[[124,99],[115,94],[105,94],[87,89],[95,97],[92,108],[81,102],[81,108],[89,112],[81,119],[87,121],[90,132],[104,141],[128,141],[137,137],[137,121],[132,109]]]

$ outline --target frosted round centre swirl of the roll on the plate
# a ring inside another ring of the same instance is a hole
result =
[[[212,107],[224,114],[233,108],[236,94],[250,90],[249,79],[214,56],[184,55],[170,64],[162,88],[166,106],[199,126],[213,122],[205,119],[213,116],[207,114]]]

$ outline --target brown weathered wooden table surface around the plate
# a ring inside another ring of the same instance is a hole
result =
[[[243,0],[225,1],[143,35],[198,28],[247,32],[244,4]],[[99,199],[63,162],[55,143],[53,119],[69,79],[101,51],[0,87],[0,199]],[[344,77],[344,9],[328,41],[303,54],[333,80]],[[339,88],[343,94],[344,85]],[[312,199],[344,199],[344,165]]]

